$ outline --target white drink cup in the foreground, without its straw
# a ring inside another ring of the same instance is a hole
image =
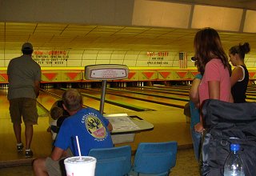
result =
[[[96,162],[96,158],[88,156],[66,158],[66,176],[94,176]]]

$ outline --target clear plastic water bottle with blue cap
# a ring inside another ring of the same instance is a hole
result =
[[[239,144],[230,145],[230,154],[224,165],[224,176],[245,176],[242,158],[238,154],[239,150]]]

